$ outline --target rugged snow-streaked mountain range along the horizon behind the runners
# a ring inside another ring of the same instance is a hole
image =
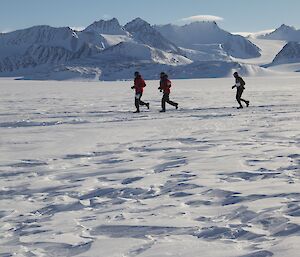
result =
[[[290,41],[299,35],[282,25],[260,37]],[[176,78],[225,77],[232,70],[253,70],[243,60],[261,56],[249,39],[216,22],[152,26],[141,18],[125,26],[116,18],[100,20],[82,31],[34,26],[0,34],[0,46],[0,76],[24,79],[120,80],[132,78],[135,70],[148,79],[162,70]],[[290,47],[299,55],[287,44],[274,63],[286,61],[282,56],[298,60],[286,54]]]

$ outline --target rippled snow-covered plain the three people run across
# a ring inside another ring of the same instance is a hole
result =
[[[0,256],[298,256],[300,77],[0,80]]]

